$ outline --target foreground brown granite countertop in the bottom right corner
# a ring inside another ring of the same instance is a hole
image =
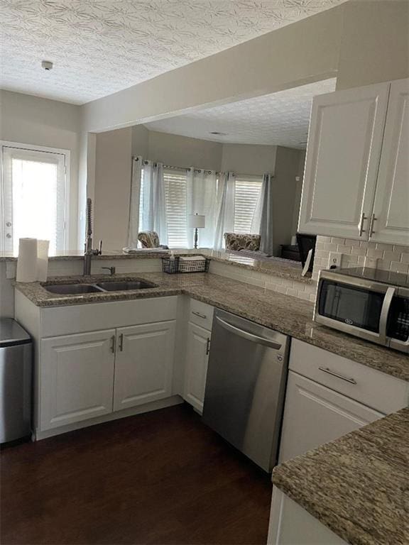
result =
[[[409,544],[409,407],[273,470],[273,483],[353,545]]]

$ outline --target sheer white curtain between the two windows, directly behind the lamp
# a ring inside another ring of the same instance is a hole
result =
[[[199,246],[213,248],[216,227],[217,177],[214,170],[187,170],[187,215],[203,214],[205,229],[199,229]],[[193,248],[194,229],[187,229],[187,246]]]

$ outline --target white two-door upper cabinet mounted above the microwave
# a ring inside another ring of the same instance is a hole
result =
[[[409,244],[408,90],[404,79],[314,99],[300,232]]]

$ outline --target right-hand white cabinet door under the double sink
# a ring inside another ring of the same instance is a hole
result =
[[[175,320],[116,330],[114,411],[172,395]]]

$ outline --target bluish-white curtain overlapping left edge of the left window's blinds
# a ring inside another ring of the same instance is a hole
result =
[[[139,231],[156,231],[160,244],[168,244],[163,164],[143,161]]]

